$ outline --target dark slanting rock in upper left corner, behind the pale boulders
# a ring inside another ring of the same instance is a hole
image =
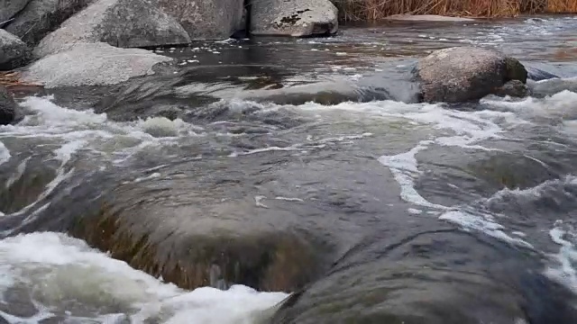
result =
[[[56,30],[60,23],[92,1],[31,0],[23,11],[14,16],[14,21],[5,26],[5,30],[20,37],[30,48],[33,48],[50,31]]]

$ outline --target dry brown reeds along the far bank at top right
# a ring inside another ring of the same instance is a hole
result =
[[[577,0],[332,0],[344,21],[378,21],[393,14],[512,17],[577,13]]]

